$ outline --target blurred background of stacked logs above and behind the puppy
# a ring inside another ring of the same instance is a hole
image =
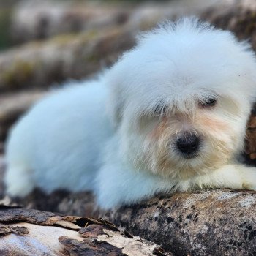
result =
[[[198,15],[255,47],[255,2],[0,0],[0,153],[10,126],[48,89],[110,66],[162,20]]]

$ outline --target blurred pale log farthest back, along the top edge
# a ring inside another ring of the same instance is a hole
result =
[[[183,0],[126,3],[117,1],[25,0],[12,11],[10,34],[14,44],[78,31],[126,26],[133,31],[151,29],[157,23],[181,15],[196,15],[214,1]]]

